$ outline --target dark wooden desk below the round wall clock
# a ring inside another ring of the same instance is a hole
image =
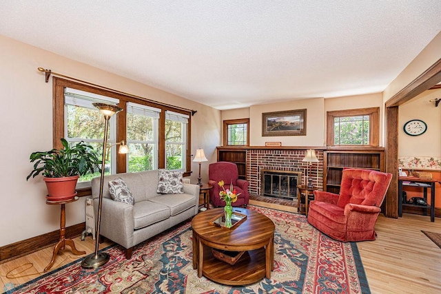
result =
[[[409,182],[409,183],[407,183]],[[427,188],[431,190],[430,197],[430,221],[435,222],[435,183],[438,180],[431,180],[427,178],[416,178],[411,176],[400,176],[398,177],[398,216],[402,217],[402,207],[411,206],[411,207],[420,207],[422,209],[429,209],[428,206],[416,205],[416,204],[403,204],[402,202],[402,187],[403,186],[411,186],[411,187],[421,187],[423,188],[424,198],[427,200]],[[422,185],[418,185],[422,184]]]

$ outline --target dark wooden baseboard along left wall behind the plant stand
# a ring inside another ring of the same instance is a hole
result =
[[[74,224],[73,226],[66,227],[65,238],[72,239],[78,237],[85,230],[85,222]],[[48,246],[57,244],[60,239],[60,230],[38,235],[33,238],[21,240],[12,244],[8,244],[0,247],[0,263],[12,260],[14,258],[20,258],[21,256],[28,255],[35,251],[39,251]]]

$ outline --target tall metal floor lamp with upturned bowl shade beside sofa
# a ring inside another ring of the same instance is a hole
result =
[[[86,256],[81,262],[83,269],[96,269],[109,261],[110,255],[105,252],[98,253],[99,247],[99,227],[101,224],[101,205],[103,204],[103,184],[104,184],[104,167],[105,167],[105,154],[107,151],[107,130],[109,127],[110,117],[123,110],[116,105],[109,105],[105,103],[92,103],[94,107],[98,108],[105,119],[104,125],[104,140],[103,140],[103,160],[101,161],[101,181],[99,184],[99,202],[98,202],[98,220],[96,221],[96,238],[95,238],[95,252]]]

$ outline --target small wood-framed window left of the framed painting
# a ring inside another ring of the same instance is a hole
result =
[[[249,118],[223,121],[223,145],[249,145]]]

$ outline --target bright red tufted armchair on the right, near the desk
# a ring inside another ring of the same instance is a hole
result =
[[[342,242],[375,240],[374,226],[391,174],[368,169],[343,169],[340,195],[314,191],[308,222]]]

